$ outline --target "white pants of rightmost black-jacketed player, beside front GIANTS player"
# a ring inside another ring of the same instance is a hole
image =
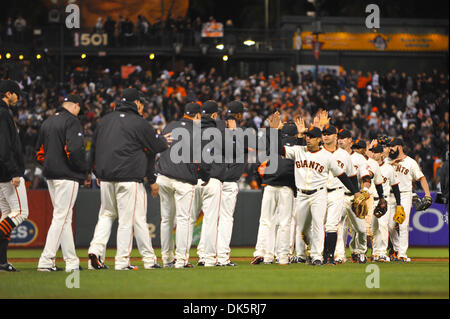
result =
[[[289,262],[293,208],[294,192],[290,187],[270,185],[265,187],[254,256],[264,256],[264,261],[270,262],[273,261],[275,252],[280,264]]]

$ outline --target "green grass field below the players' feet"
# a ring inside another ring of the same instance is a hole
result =
[[[442,261],[415,260],[409,264],[376,264],[380,288],[366,287],[366,265],[346,263],[313,267],[250,265],[253,249],[234,248],[232,257],[238,267],[195,267],[193,269],[156,269],[138,271],[80,272],[80,288],[66,287],[65,272],[36,271],[41,250],[10,249],[9,258],[18,273],[0,272],[0,298],[449,298],[448,248],[411,248],[411,258],[447,258]],[[86,249],[78,256],[87,257]],[[108,250],[107,257],[115,251]],[[156,250],[158,256],[159,250]],[[195,250],[191,251],[192,256]],[[132,257],[139,257],[133,251]],[[19,258],[19,259],[18,259]],[[247,258],[247,259],[242,259]],[[140,260],[133,262],[142,266]],[[82,261],[87,269],[87,262]],[[113,268],[113,260],[106,264]],[[193,264],[196,265],[195,259]],[[57,265],[64,267],[62,261]]]

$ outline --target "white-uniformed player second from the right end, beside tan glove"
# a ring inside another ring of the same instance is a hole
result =
[[[389,150],[386,148],[386,152],[383,149],[383,146],[379,143],[373,145],[369,151],[372,154],[372,158],[379,163],[380,171],[383,179],[383,193],[384,197],[388,198],[389,192],[392,191],[395,194],[395,200],[397,205],[400,205],[400,192],[398,188],[398,175],[394,171],[394,168],[388,164],[384,158],[387,156]],[[374,197],[374,206],[377,206],[379,202],[379,198]],[[373,241],[372,241],[372,261],[375,262],[389,262],[390,259],[386,255],[388,240],[389,240],[389,232],[388,232],[388,223],[390,217],[390,206],[387,205],[386,213],[377,218],[375,216],[372,217],[372,233],[373,233]]]

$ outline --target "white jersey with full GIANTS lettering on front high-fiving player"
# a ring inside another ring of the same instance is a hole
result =
[[[306,146],[285,146],[286,158],[294,161],[295,185],[299,189],[314,190],[326,187],[328,174],[334,176],[344,173],[337,161],[331,159],[331,153],[320,148],[317,152],[308,152]]]

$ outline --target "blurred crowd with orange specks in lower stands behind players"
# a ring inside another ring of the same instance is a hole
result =
[[[26,92],[14,115],[30,188],[46,187],[42,171],[33,161],[34,147],[41,123],[55,112],[63,97],[76,92],[84,98],[81,120],[88,151],[98,119],[114,109],[122,89],[129,86],[147,96],[144,117],[156,129],[179,119],[189,101],[213,99],[224,106],[241,100],[248,108],[241,125],[255,130],[267,127],[267,117],[275,110],[284,121],[301,115],[308,122],[309,114],[325,109],[332,124],[351,129],[355,138],[403,137],[407,154],[417,160],[432,189],[436,189],[437,170],[449,144],[449,78],[438,70],[419,74],[343,69],[337,74],[327,70],[315,79],[311,72],[297,73],[291,67],[271,75],[260,72],[247,78],[225,78],[214,68],[197,72],[188,65],[180,72],[164,70],[154,75],[137,66],[123,78],[119,69],[83,66],[71,70],[64,87],[54,84],[51,72],[37,73],[25,67],[22,74],[12,75],[7,66],[0,67],[1,79],[17,77]],[[249,167],[248,172],[253,171]],[[243,187],[258,187],[256,176],[244,175]]]

